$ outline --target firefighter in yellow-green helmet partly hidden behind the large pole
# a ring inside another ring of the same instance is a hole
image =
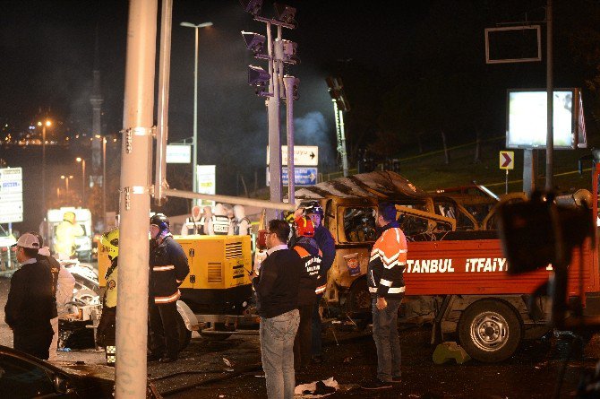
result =
[[[119,230],[108,230],[100,238],[100,242],[107,249],[110,266],[104,278],[107,288],[102,299],[102,316],[96,334],[96,343],[104,348],[107,365],[115,366],[116,361],[116,284],[117,266],[119,256]]]

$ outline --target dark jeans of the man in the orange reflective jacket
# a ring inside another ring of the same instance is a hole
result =
[[[398,308],[402,299],[386,299],[388,307],[377,308],[372,299],[373,341],[377,347],[377,378],[381,381],[398,379],[401,375],[401,351],[398,336]]]

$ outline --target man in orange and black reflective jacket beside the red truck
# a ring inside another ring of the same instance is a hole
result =
[[[377,347],[377,377],[362,385],[364,389],[390,388],[400,382],[400,340],[398,308],[404,297],[404,266],[407,239],[396,221],[396,208],[381,203],[377,209],[381,236],[373,245],[367,269],[367,285],[373,311],[373,341]]]

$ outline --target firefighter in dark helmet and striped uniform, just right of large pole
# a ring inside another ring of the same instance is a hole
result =
[[[148,360],[170,363],[177,360],[178,287],[190,273],[184,249],[173,239],[167,216],[150,218],[150,353]]]

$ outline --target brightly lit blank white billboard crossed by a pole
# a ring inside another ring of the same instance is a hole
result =
[[[544,149],[547,96],[543,89],[507,91],[506,147]],[[586,127],[579,89],[553,91],[553,141],[557,150],[585,148]]]

